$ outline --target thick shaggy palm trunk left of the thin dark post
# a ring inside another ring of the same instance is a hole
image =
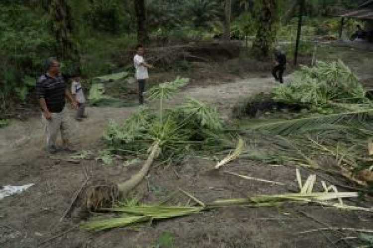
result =
[[[259,13],[258,32],[252,51],[259,59],[268,58],[276,40],[277,0],[263,0]]]

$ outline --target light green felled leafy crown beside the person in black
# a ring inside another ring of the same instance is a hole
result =
[[[335,103],[369,103],[356,75],[342,61],[302,66],[289,84],[276,87],[273,100],[317,108]]]

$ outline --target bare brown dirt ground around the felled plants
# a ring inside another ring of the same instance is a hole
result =
[[[363,76],[368,78],[367,73]],[[207,78],[199,85],[187,87],[170,104],[193,97],[217,106],[222,117],[228,119],[238,98],[268,91],[274,85],[272,78],[257,75],[225,83],[214,83]],[[70,121],[75,147],[97,153],[103,149],[100,138],[108,121],[123,121],[137,108],[89,107],[89,119],[82,123]],[[73,112],[68,110],[68,115],[72,117]],[[138,171],[139,164],[125,167],[124,161],[117,158],[114,165],[107,166],[93,158],[77,162],[67,153],[49,156],[42,150],[43,125],[38,115],[25,122],[12,121],[0,129],[0,137],[0,186],[35,184],[21,194],[0,200],[1,248],[348,248],[356,243],[345,238],[358,237],[358,233],[299,232],[325,227],[373,229],[372,214],[368,212],[318,205],[282,205],[227,207],[135,228],[86,232],[77,227],[77,217],[60,222],[86,176],[124,181]],[[238,159],[226,168],[285,184],[279,186],[238,179],[223,172],[212,173],[215,163],[213,156],[201,158],[189,154],[181,165],[153,169],[144,183],[142,201],[157,202],[178,187],[204,202],[297,191],[294,167],[272,167]],[[303,178],[308,176],[305,170],[301,170],[301,174]],[[349,185],[342,179],[322,176]],[[321,179],[317,182],[317,190],[321,190]],[[172,203],[186,204],[187,201],[180,195]],[[369,199],[359,203],[345,201],[365,207],[372,206],[372,202]],[[162,245],[165,234],[172,237],[173,245]]]

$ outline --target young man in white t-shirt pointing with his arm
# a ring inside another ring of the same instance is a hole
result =
[[[143,93],[145,91],[145,81],[149,78],[148,68],[153,68],[153,65],[147,64],[144,60],[145,50],[142,45],[138,45],[136,47],[136,55],[133,58],[135,63],[135,77],[136,80],[139,82],[139,101],[140,105],[144,104],[144,96]]]

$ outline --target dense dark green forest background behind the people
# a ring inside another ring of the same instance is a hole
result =
[[[303,34],[336,34],[335,14],[362,2],[306,0]],[[266,8],[272,11],[271,27],[262,25]],[[269,47],[279,39],[291,41],[297,14],[295,0],[2,0],[0,109],[27,101],[51,56],[62,61],[65,74],[80,68],[90,78],[131,71],[131,58],[124,55],[139,42],[157,47],[247,38],[252,50],[263,45],[260,34],[271,40]]]

